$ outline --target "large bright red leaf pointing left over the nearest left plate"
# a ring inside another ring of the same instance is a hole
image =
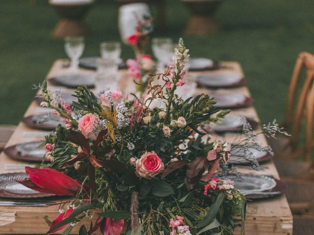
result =
[[[75,196],[80,183],[60,171],[49,168],[25,167],[29,179],[39,188],[55,191],[55,195]]]

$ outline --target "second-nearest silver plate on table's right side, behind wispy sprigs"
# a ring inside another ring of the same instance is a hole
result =
[[[243,148],[232,148],[230,152],[230,161],[232,162],[247,162],[247,159],[253,159],[255,158],[258,160],[259,158],[262,158],[267,155],[266,151],[259,151],[256,148],[248,147],[247,151],[245,151]]]

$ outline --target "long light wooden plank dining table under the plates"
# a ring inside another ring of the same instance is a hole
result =
[[[221,69],[219,71],[206,71],[210,72],[235,72],[243,75],[241,66],[237,62],[224,62],[226,69]],[[85,71],[83,72],[94,72]],[[47,78],[50,78],[57,74],[62,74],[66,72],[66,69],[62,67],[62,61],[57,60],[52,69],[49,71]],[[197,75],[204,72],[191,72],[191,75]],[[132,79],[127,79],[126,71],[120,71],[121,79],[120,85],[121,90],[132,84]],[[126,84],[128,83],[128,84]],[[52,85],[48,82],[48,86]],[[212,93],[208,89],[197,89],[197,93]],[[228,90],[216,90],[219,93],[238,93],[246,94],[250,96],[247,87],[240,87]],[[32,101],[28,107],[25,116],[37,114],[38,111],[42,111],[39,105]],[[232,114],[242,115],[245,117],[254,118],[259,121],[254,107],[236,109],[231,112]],[[28,128],[24,123],[20,122],[16,131],[12,135],[7,146],[21,143],[24,141],[36,141],[43,138],[25,138],[23,137],[24,132],[37,132],[38,130],[32,130]],[[213,136],[213,138],[216,138]],[[235,138],[234,134],[228,134],[224,137],[217,137],[229,142],[232,142]],[[259,136],[262,145],[267,144],[264,136]],[[4,164],[21,164],[21,162],[9,159],[4,153],[0,154],[0,173],[8,173],[10,171],[4,170]],[[273,175],[275,178],[279,179],[278,172],[276,170],[273,162],[268,162],[262,164],[267,168],[262,171],[254,171],[251,169],[240,169],[245,173],[254,174],[265,174]],[[16,170],[15,170],[16,172]],[[45,234],[48,231],[48,226],[43,219],[45,215],[48,219],[53,220],[57,215],[58,206],[51,207],[13,207],[13,206],[0,206],[0,234]],[[72,230],[73,233],[77,233],[78,226]],[[288,202],[285,195],[281,195],[275,198],[260,200],[255,202],[249,202],[247,208],[247,216],[245,221],[245,232],[247,235],[292,235],[292,215],[288,206]],[[239,227],[235,228],[235,235],[240,234]]]

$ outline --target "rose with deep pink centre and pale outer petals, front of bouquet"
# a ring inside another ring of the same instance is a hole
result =
[[[152,179],[164,170],[164,164],[158,155],[153,152],[145,152],[140,159],[136,160],[136,175]]]

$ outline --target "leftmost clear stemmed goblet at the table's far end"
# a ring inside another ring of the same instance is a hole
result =
[[[78,71],[78,60],[84,51],[84,37],[66,37],[64,39],[64,49],[71,59],[71,71]]]

